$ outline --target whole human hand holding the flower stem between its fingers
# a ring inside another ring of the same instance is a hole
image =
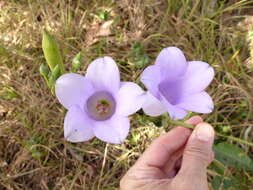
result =
[[[121,190],[209,190],[207,166],[212,162],[214,130],[202,118],[158,137],[120,181]]]

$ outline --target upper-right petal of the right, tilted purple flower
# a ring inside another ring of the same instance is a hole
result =
[[[182,81],[182,90],[185,93],[203,91],[213,80],[214,69],[202,61],[190,61]]]

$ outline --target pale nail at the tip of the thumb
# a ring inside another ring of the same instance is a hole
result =
[[[196,127],[196,136],[201,141],[210,141],[213,137],[213,128],[206,123],[201,123]]]

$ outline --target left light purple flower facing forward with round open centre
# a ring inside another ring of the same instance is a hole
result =
[[[85,76],[62,75],[55,86],[56,96],[68,109],[64,137],[71,142],[96,136],[109,143],[122,143],[138,111],[144,91],[135,83],[120,82],[118,67],[111,57],[94,60]]]

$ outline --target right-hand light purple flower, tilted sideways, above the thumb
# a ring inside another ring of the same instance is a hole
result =
[[[158,116],[168,112],[172,119],[182,119],[187,111],[210,113],[212,98],[204,91],[214,77],[213,68],[202,61],[187,62],[183,52],[167,47],[158,55],[155,65],[141,76],[148,89],[143,110]]]

